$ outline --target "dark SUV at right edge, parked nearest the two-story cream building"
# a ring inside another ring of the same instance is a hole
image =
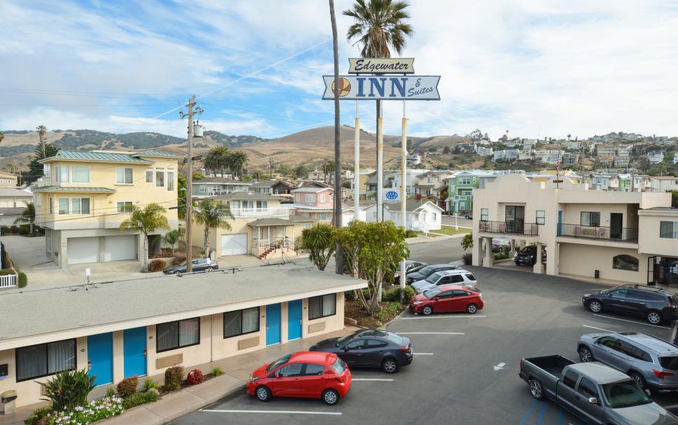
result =
[[[642,316],[653,325],[678,319],[678,296],[663,288],[621,285],[592,289],[584,293],[581,302],[594,313],[609,311]]]

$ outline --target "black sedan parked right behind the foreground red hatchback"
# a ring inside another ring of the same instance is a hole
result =
[[[351,368],[381,368],[387,373],[412,363],[410,338],[378,329],[361,329],[344,337],[328,338],[312,345],[309,351],[334,353]]]

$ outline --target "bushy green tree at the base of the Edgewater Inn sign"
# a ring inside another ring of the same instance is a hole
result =
[[[392,221],[364,223],[351,221],[337,230],[336,238],[344,253],[347,268],[353,277],[368,281],[366,294],[357,291],[358,299],[368,314],[380,310],[382,282],[395,274],[401,260],[410,256],[405,241],[406,230]]]

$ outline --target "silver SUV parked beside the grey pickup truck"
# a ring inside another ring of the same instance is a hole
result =
[[[678,391],[678,347],[644,333],[589,333],[579,338],[581,361],[600,361],[644,389]]]

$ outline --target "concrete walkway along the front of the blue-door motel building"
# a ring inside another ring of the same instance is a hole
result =
[[[329,337],[339,337],[347,333],[357,330],[354,326],[345,326],[343,330],[338,330],[333,333],[326,333],[317,337],[308,337],[303,340],[294,340],[287,344],[277,344],[251,352],[249,354],[241,354],[224,358],[212,363],[205,363],[191,367],[192,369],[200,369],[204,373],[208,373],[212,368],[219,366],[224,374],[209,379],[202,384],[190,386],[181,391],[167,394],[155,403],[148,403],[139,407],[134,407],[117,417],[104,419],[100,423],[106,425],[160,425],[166,424],[169,421],[182,417],[195,410],[201,409],[207,405],[215,403],[216,401],[230,396],[233,393],[244,393],[244,388],[249,379],[249,374],[256,370],[264,363],[270,363],[278,358],[289,354],[293,351],[304,351],[312,344],[324,340]],[[188,368],[186,368],[188,372]],[[152,376],[155,381],[164,382],[164,375]],[[139,384],[144,382],[144,378],[139,378]],[[96,391],[96,390],[95,390]],[[44,403],[20,407],[15,414],[3,415],[0,414],[0,425],[19,425],[23,424],[24,419],[32,414],[33,410],[41,407]]]

